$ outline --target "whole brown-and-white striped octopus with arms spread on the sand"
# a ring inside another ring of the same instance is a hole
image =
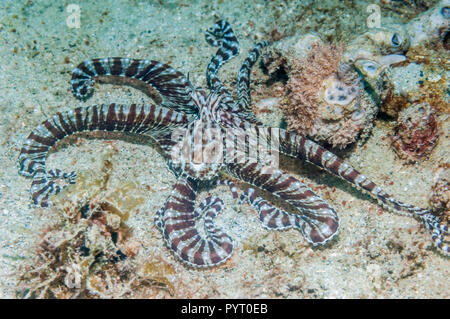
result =
[[[218,184],[228,185],[233,197],[238,197],[236,186],[223,176],[268,191],[295,210],[277,208],[253,188],[247,189],[241,195],[241,203],[248,201],[266,228],[296,228],[312,245],[325,244],[336,236],[336,211],[305,184],[273,165],[276,154],[313,163],[370,193],[383,207],[418,219],[430,231],[437,250],[449,254],[443,239],[448,228],[438,216],[395,200],[368,177],[306,137],[266,127],[257,120],[251,109],[250,71],[269,42],[256,44],[244,60],[235,102],[217,75],[220,67],[238,54],[239,43],[233,30],[221,20],[206,31],[205,38],[210,45],[219,47],[206,69],[209,93],[195,88],[181,72],[157,61],[104,58],[78,65],[70,82],[77,98],[88,97],[99,77],[120,77],[153,88],[159,93],[159,99],[155,99],[159,103],[79,107],[57,113],[37,126],[18,158],[19,173],[32,178],[34,204],[51,205],[50,195],[63,188],[58,181],[70,184],[76,179],[75,172],[46,169],[52,146],[78,132],[120,131],[154,139],[176,175],[170,196],[155,215],[155,224],[167,246],[190,266],[217,266],[232,254],[233,240],[214,224],[214,218],[223,209],[222,200],[209,196],[196,208],[198,192]],[[268,152],[269,157],[262,156],[264,151],[250,156],[260,145],[271,145],[272,150],[276,146],[276,150]]]

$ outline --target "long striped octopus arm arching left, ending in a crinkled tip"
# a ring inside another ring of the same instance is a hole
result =
[[[154,105],[94,105],[57,113],[38,125],[28,136],[18,158],[21,175],[32,177],[34,204],[49,206],[49,196],[61,187],[57,179],[74,182],[75,172],[47,171],[45,160],[52,146],[74,133],[83,131],[118,131],[164,137],[177,126],[186,125],[187,115]]]

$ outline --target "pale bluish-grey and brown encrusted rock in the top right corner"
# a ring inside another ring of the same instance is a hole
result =
[[[442,0],[405,24],[370,29],[348,44],[343,61],[358,69],[381,112],[397,117],[411,103],[425,102],[423,87],[446,76],[449,12],[450,0]],[[445,83],[437,86],[446,91]]]

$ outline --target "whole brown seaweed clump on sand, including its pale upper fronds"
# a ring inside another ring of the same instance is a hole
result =
[[[166,264],[138,258],[141,244],[126,222],[144,202],[133,183],[107,191],[111,162],[100,179],[52,199],[52,225],[39,235],[32,258],[18,270],[19,298],[149,298],[173,294]],[[169,267],[170,268],[170,267]],[[172,269],[173,270],[173,269]]]

